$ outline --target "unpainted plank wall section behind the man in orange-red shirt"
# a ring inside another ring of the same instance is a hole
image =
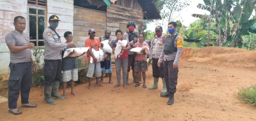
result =
[[[96,37],[104,36],[106,30],[106,13],[86,8],[74,7],[74,42],[84,47],[84,41],[89,38],[88,30],[94,28]]]

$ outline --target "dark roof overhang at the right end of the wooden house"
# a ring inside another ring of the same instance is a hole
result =
[[[161,19],[160,13],[153,0],[137,0],[143,8],[144,20]]]

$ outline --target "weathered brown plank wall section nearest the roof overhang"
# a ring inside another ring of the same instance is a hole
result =
[[[134,10],[132,8],[125,7],[127,1],[136,1],[136,0],[118,0],[126,1],[123,2],[122,6],[111,4],[107,8],[107,30],[111,31],[111,38],[116,39],[115,32],[118,29],[126,28],[126,24],[129,21],[134,21],[136,23],[135,32],[138,32],[140,24],[143,23],[143,12],[139,10]],[[137,2],[137,1],[136,1]],[[125,26],[125,27],[124,27]],[[124,32],[123,32],[124,33]]]

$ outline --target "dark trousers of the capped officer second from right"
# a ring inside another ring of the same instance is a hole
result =
[[[157,65],[158,59],[152,58],[152,71],[153,71],[153,77],[155,78],[163,78],[164,77],[164,64],[161,63],[161,66],[158,67]]]

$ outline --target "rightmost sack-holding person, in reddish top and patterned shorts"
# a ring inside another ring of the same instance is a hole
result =
[[[146,42],[144,42],[144,37],[145,34],[140,33],[139,34],[139,42],[136,42],[134,44],[134,48],[144,48],[144,47],[148,47],[148,44]],[[137,78],[139,80],[140,77],[140,73],[142,72],[142,77],[143,77],[143,88],[146,88],[146,71],[148,71],[148,66],[147,66],[147,55],[145,52],[145,49],[142,50],[142,54],[137,54],[134,53],[135,56],[135,61],[134,61],[134,71],[137,72]],[[138,87],[140,85],[140,81],[138,81],[138,83],[136,83],[134,86]]]

